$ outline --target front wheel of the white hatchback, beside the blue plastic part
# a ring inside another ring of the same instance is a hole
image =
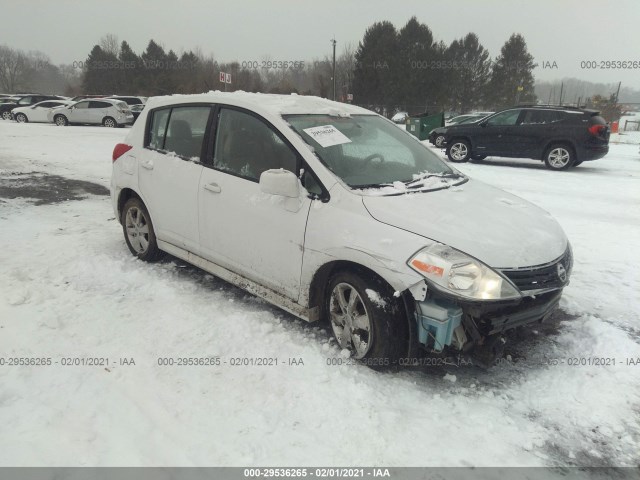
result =
[[[367,290],[377,292],[372,293],[376,301]],[[348,349],[353,358],[366,365],[374,369],[397,366],[406,355],[408,325],[404,307],[379,277],[352,271],[333,275],[326,290],[324,312],[339,347]]]

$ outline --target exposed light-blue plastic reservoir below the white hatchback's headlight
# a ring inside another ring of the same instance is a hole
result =
[[[420,343],[441,352],[451,345],[453,331],[462,321],[462,309],[445,300],[416,302],[416,319]]]

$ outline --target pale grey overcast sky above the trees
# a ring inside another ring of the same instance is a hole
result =
[[[475,32],[491,57],[521,33],[539,64],[537,79],[640,89],[640,68],[581,68],[583,61],[640,63],[640,0],[2,0],[0,44],[72,63],[112,33],[138,53],[153,38],[178,53],[199,47],[218,61],[309,61],[330,54],[334,35],[340,52],[356,47],[373,22],[400,29],[413,15],[447,44]]]

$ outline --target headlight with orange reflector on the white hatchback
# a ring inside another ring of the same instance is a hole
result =
[[[473,300],[521,298],[508,280],[484,263],[447,245],[424,248],[407,264],[437,286],[460,297]]]

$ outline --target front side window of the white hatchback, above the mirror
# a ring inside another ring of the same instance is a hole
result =
[[[223,108],[213,166],[249,180],[273,168],[296,173],[297,155],[269,125],[253,115]]]

